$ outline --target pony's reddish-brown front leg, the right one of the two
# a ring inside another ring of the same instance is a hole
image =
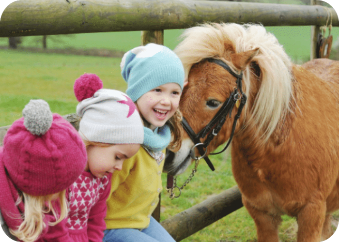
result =
[[[326,203],[312,201],[297,215],[297,242],[320,242],[325,221]]]

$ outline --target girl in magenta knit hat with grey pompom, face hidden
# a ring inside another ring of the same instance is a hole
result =
[[[51,241],[66,232],[50,228],[67,216],[65,189],[85,168],[85,145],[44,100],[31,100],[22,113],[0,147],[1,227],[18,241]]]

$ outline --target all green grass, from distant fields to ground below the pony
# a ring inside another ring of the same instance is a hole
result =
[[[267,27],[267,30],[277,36],[279,43],[284,46],[295,63],[308,61],[310,27]],[[165,30],[164,45],[173,49],[179,43],[178,37],[182,31]],[[334,46],[338,45],[339,28],[333,28],[332,34]],[[20,118],[23,107],[30,99],[45,99],[52,112],[62,115],[74,113],[77,100],[73,93],[73,84],[76,78],[84,73],[97,74],[102,79],[104,88],[125,91],[126,84],[120,75],[121,58],[25,51],[25,47],[28,46],[40,47],[41,39],[42,36],[24,37],[21,49],[0,49],[0,126],[9,125]],[[7,42],[7,38],[0,38],[0,45],[7,45]],[[47,45],[48,49],[98,48],[127,51],[140,45],[140,32],[49,36]],[[228,156],[219,154],[210,158],[216,171],[212,172],[205,162],[201,161],[198,172],[185,187],[180,198],[170,200],[166,190],[163,191],[161,220],[236,184]],[[185,181],[191,168],[178,177],[178,184],[181,185]],[[166,174],[163,174],[163,187],[166,187],[165,183]],[[295,231],[295,219],[284,216],[280,227],[281,240],[295,241]],[[254,222],[246,209],[242,208],[185,239],[184,242],[252,242],[255,238]]]

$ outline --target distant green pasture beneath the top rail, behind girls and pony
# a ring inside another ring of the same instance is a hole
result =
[[[295,63],[309,60],[310,27],[266,27],[274,33]],[[164,45],[173,49],[183,30],[165,30]],[[328,31],[325,36],[327,36]],[[339,43],[339,28],[332,29],[333,46]],[[121,58],[76,56],[52,53],[31,53],[28,46],[41,47],[42,36],[24,37],[18,50],[0,49],[0,126],[9,125],[19,117],[31,98],[43,98],[53,112],[62,115],[74,112],[77,100],[73,94],[75,79],[84,73],[95,73],[104,87],[125,91],[120,75]],[[7,38],[0,38],[6,48]],[[48,50],[110,49],[128,51],[140,45],[140,31],[53,35],[47,37]],[[334,47],[333,47],[333,51]]]

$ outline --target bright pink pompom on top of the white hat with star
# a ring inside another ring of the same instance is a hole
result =
[[[92,97],[96,91],[102,89],[103,84],[99,76],[91,73],[85,73],[77,78],[74,83],[73,90],[77,97],[77,101]]]

